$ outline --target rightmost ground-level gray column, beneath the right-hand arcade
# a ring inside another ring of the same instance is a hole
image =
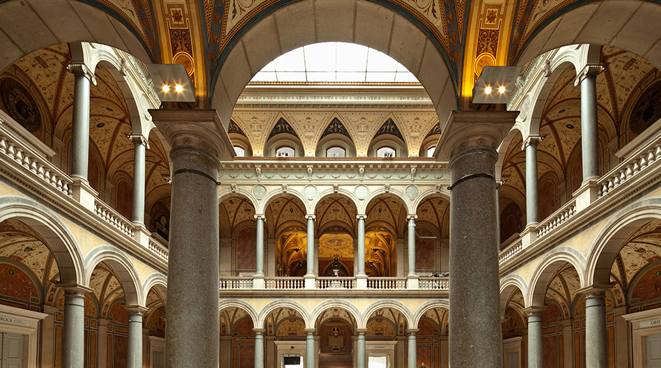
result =
[[[585,365],[590,368],[609,367],[605,293],[585,296]]]

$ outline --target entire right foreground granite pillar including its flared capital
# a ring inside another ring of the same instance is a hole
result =
[[[501,368],[496,148],[518,112],[452,112],[439,146],[449,161],[450,317],[453,368]],[[476,267],[479,265],[479,267]]]

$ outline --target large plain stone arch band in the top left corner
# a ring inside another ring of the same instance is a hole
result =
[[[0,40],[3,55],[0,70],[5,70],[23,56],[59,43],[93,42],[110,45],[151,61],[150,51],[135,31],[105,10],[84,2],[68,0],[3,1],[0,13],[7,38]]]

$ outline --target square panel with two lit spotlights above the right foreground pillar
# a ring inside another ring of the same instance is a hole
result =
[[[485,66],[473,87],[473,103],[506,104],[520,71],[520,66]]]

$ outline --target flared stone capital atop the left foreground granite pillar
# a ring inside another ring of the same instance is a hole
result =
[[[173,149],[194,147],[217,160],[234,158],[232,141],[216,110],[150,109],[149,114]]]

